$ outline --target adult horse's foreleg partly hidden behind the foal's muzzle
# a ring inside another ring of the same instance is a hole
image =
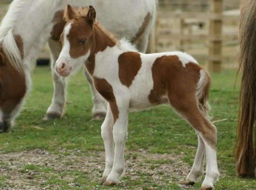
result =
[[[51,50],[51,68],[53,70],[56,60],[61,52],[61,45],[55,40],[48,41],[49,48]],[[64,107],[66,104],[66,82],[60,80],[60,77],[53,72],[53,86],[54,92],[52,97],[52,103],[46,111],[44,119],[57,119],[63,115]]]

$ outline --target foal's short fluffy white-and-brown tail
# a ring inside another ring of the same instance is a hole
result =
[[[197,82],[196,88],[196,97],[198,98],[198,106],[201,112],[206,116],[208,119],[211,119],[209,116],[209,111],[211,109],[208,103],[209,97],[209,90],[211,85],[211,77],[207,71],[201,70],[200,71],[200,78]]]

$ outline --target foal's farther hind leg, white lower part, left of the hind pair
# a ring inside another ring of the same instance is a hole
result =
[[[205,156],[205,147],[204,141],[197,133],[198,138],[198,146],[197,153],[195,156],[194,164],[192,166],[191,171],[189,172],[186,181],[183,183],[185,185],[194,185],[194,183],[198,182],[201,179],[201,176],[204,174],[204,156]]]

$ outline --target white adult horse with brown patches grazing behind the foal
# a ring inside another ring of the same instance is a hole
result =
[[[145,52],[153,25],[157,0],[14,0],[0,26],[0,131],[12,126],[31,85],[31,59],[48,41],[52,68],[59,57],[59,36],[65,22],[63,9],[94,5],[100,13],[98,20],[118,36],[125,36]],[[118,19],[117,19],[118,18]],[[93,116],[104,117],[107,104],[95,90],[85,71],[93,96]],[[54,93],[45,119],[60,118],[66,102],[66,82],[53,74]],[[2,118],[1,118],[2,117]]]

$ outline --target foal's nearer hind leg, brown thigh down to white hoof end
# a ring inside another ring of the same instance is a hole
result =
[[[175,95],[174,95],[175,96]],[[214,189],[215,182],[219,179],[219,171],[216,158],[216,128],[215,126],[201,113],[198,108],[197,101],[193,96],[170,97],[170,104],[179,112],[194,129],[204,142],[206,151],[206,175],[202,183],[202,190]],[[201,154],[198,153],[196,159],[200,159]],[[201,162],[201,160],[195,160]],[[197,165],[197,164],[195,164]],[[201,170],[201,168],[200,168]],[[190,176],[188,176],[190,178]]]

